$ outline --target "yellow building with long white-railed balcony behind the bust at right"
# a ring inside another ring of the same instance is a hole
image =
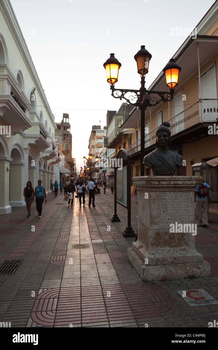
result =
[[[180,167],[175,175],[192,175],[189,159],[201,163],[218,157],[217,12],[218,1],[198,23],[197,35],[189,36],[173,56],[182,68],[174,99],[160,102],[145,111],[145,155],[155,149],[157,127],[163,121],[169,121],[172,150],[186,161],[186,166]],[[167,91],[163,71],[148,90]],[[140,176],[140,115],[140,110],[134,107],[121,125],[121,128],[132,128],[131,142],[128,144],[126,136],[124,148],[135,160],[133,176]],[[209,129],[213,132],[210,133]],[[145,175],[153,175],[151,169],[145,168]],[[213,187],[213,197],[217,201],[217,181]]]

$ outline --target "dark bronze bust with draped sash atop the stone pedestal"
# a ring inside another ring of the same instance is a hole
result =
[[[156,149],[144,158],[143,164],[152,168],[154,176],[172,176],[182,165],[182,156],[170,151],[170,123],[164,121],[156,131]]]

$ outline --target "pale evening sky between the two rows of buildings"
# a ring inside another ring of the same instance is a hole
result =
[[[10,0],[56,123],[69,114],[77,169],[88,156],[92,125],[106,125],[107,110],[125,100],[111,96],[103,63],[113,52],[122,64],[120,89],[139,89],[134,55],[152,54],[146,88],[214,0]],[[176,26],[184,36],[172,36]],[[100,122],[99,122],[100,121]]]

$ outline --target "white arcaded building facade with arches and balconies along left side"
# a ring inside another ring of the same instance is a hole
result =
[[[43,106],[43,107],[39,107]],[[27,181],[50,193],[56,124],[9,1],[0,2],[0,215],[25,205]]]

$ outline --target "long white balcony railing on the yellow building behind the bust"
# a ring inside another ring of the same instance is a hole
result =
[[[184,111],[170,118],[171,138],[182,131],[188,133],[188,129],[201,123],[218,122],[218,99],[201,99],[187,107]],[[156,130],[150,131],[145,135],[145,149],[155,145]],[[179,135],[178,135],[179,136]],[[175,139],[175,138],[174,138]],[[129,155],[141,150],[141,140],[135,141],[132,145],[126,147]]]

